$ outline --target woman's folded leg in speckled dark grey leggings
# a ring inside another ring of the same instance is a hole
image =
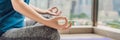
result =
[[[14,28],[7,31],[2,37],[9,40],[60,40],[59,33],[56,29],[40,25]]]

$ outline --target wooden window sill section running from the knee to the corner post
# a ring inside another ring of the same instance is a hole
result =
[[[81,34],[81,33],[92,33],[92,26],[72,26],[68,30],[59,30],[61,34]]]

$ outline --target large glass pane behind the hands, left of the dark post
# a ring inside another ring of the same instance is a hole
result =
[[[31,0],[31,4],[47,9],[57,6],[73,26],[90,26],[91,22],[91,0]]]

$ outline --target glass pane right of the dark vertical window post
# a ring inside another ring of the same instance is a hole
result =
[[[120,0],[99,0],[98,23],[120,29]]]

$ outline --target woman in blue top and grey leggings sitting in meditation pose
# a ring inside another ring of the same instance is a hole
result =
[[[56,17],[46,19],[40,14],[51,14]],[[66,17],[59,16],[60,14],[61,11],[56,7],[41,10],[29,5],[29,0],[0,0],[0,35],[2,38],[10,38],[11,40],[31,40],[31,38],[36,40],[60,40],[57,30],[66,30],[71,27]],[[23,15],[45,26],[21,28],[24,26]],[[59,19],[64,19],[65,24],[59,25]]]

